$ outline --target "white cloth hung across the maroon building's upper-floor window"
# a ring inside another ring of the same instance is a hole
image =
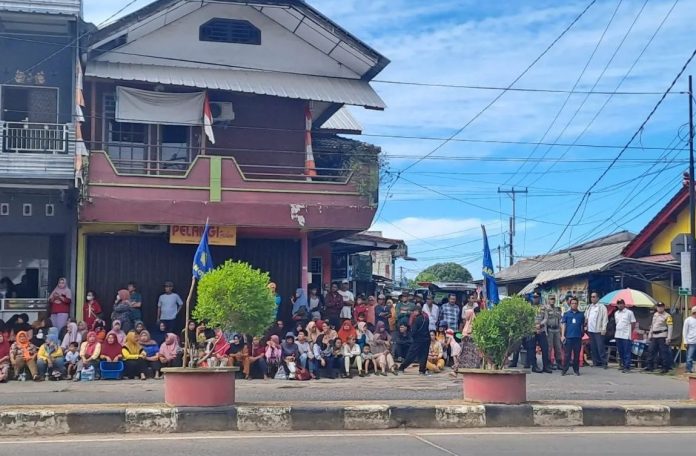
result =
[[[171,93],[116,87],[116,121],[201,125],[205,92]]]

